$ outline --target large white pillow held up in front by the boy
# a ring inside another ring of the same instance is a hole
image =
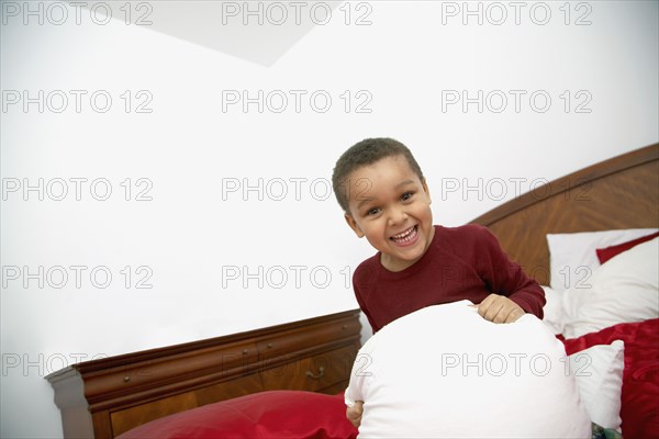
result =
[[[469,301],[401,317],[361,348],[346,403],[364,438],[590,438],[560,341],[534,315],[498,325]]]

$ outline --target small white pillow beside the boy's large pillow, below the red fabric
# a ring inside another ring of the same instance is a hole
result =
[[[568,357],[570,373],[577,378],[579,393],[591,420],[621,431],[621,395],[625,344],[597,345]]]

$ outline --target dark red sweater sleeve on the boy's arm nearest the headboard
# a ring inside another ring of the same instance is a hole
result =
[[[477,269],[490,291],[507,296],[526,313],[541,319],[546,300],[540,285],[509,258],[488,228],[476,226],[476,232],[480,248],[476,255]]]

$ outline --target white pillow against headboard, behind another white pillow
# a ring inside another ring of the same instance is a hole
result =
[[[657,228],[548,234],[549,285],[556,291],[565,291],[574,284],[588,283],[594,269],[600,267],[597,248],[623,244],[655,232]]]

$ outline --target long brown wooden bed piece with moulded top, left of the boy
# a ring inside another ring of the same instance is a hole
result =
[[[359,309],[69,365],[46,376],[65,438],[114,438],[164,416],[250,393],[348,386]]]

